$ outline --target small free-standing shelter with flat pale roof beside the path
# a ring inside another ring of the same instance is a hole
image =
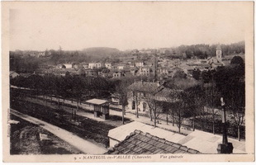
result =
[[[109,119],[109,103],[110,103],[110,101],[93,98],[86,102],[93,106],[95,117],[102,117],[102,119],[104,119],[104,120]]]

